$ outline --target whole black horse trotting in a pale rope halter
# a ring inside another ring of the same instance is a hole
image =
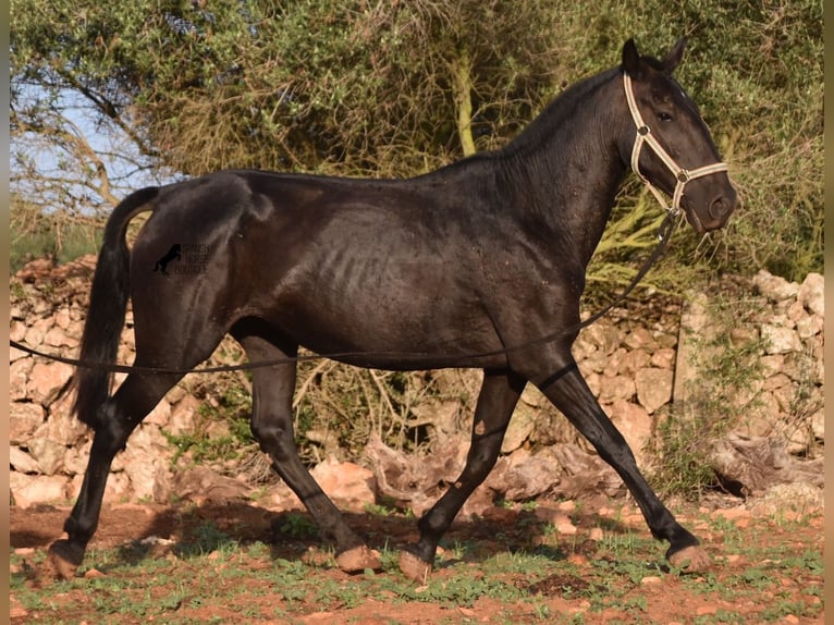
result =
[[[722,228],[735,207],[726,166],[672,77],[684,45],[658,60],[629,40],[622,65],[565,90],[505,148],[418,177],[223,171],[122,201],[105,231],[81,357],[115,360],[132,297],[135,365],[168,371],[131,373],[112,396],[108,373],[76,372],[74,409],[95,438],[68,537],[50,548],[58,573],[72,575],[81,563],[111,462],[182,378],[171,370],[195,367],[226,333],[250,360],[286,357],[253,372],[252,430],[335,541],[345,571],[377,568],[379,560],[298,458],[292,357],[299,346],[361,367],[483,369],[466,466],[402,552],[407,576],[431,571],[438,541],[495,463],[528,382],[622,476],[651,532],[670,542],[671,562],[707,567],[698,539],[648,486],[571,353],[586,266],[629,163],[674,195],[699,233]],[[148,210],[130,252],[126,225]],[[176,242],[208,250],[205,271],[150,271]]]

